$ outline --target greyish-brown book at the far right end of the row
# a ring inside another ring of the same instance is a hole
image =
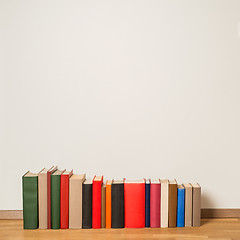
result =
[[[201,224],[201,187],[198,183],[192,184],[193,187],[193,227]]]

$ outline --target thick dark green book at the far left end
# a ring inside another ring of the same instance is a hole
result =
[[[23,228],[38,228],[38,174],[27,172],[22,177]]]

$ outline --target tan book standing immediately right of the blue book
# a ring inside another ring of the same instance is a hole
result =
[[[185,188],[185,227],[192,227],[192,185],[183,184]]]

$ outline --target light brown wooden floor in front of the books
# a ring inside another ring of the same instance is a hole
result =
[[[240,219],[202,219],[198,228],[23,230],[22,220],[0,220],[0,240],[240,240]]]

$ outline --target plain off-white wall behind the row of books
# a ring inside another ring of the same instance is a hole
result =
[[[52,164],[239,208],[239,22],[237,0],[0,0],[0,209]]]

